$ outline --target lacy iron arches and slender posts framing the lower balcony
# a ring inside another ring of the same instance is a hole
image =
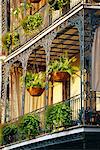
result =
[[[8,62],[6,62],[4,64],[3,85],[2,85],[2,100],[4,101],[4,103],[6,102],[6,98],[7,98],[6,95],[7,95],[8,77],[9,77],[10,67],[12,66],[12,64],[14,64],[17,61],[20,61],[22,63],[23,79],[25,81],[27,62],[28,62],[30,54],[38,46],[43,46],[43,48],[45,49],[45,53],[46,53],[46,70],[48,70],[48,64],[50,61],[51,45],[52,45],[52,41],[57,36],[57,33],[66,29],[66,27],[68,27],[68,26],[72,26],[72,27],[76,26],[79,31],[79,37],[80,37],[79,41],[80,41],[80,64],[81,64],[81,108],[83,107],[82,101],[84,100],[84,97],[85,97],[85,94],[84,94],[85,72],[84,71],[85,71],[85,69],[87,69],[86,68],[87,67],[86,66],[86,60],[87,60],[86,58],[88,58],[88,57],[86,57],[86,51],[87,51],[86,49],[91,49],[90,44],[91,44],[92,38],[93,38],[93,36],[91,36],[91,35],[93,35],[93,30],[94,30],[93,28],[95,28],[95,24],[96,24],[96,23],[94,23],[96,21],[95,17],[93,17],[91,19],[91,17],[92,17],[90,15],[91,12],[89,12],[89,14],[88,14],[88,11],[87,11],[87,13],[85,13],[85,11],[86,10],[83,9],[83,10],[79,11],[77,14],[73,15],[68,20],[66,19],[66,21],[64,21],[63,23],[58,25],[53,31],[51,31],[45,37],[43,37],[42,39],[37,41],[34,45],[31,45],[24,52],[11,58]],[[90,26],[91,21],[92,21],[92,25]],[[86,30],[86,27],[88,27],[88,32]],[[87,34],[88,34],[88,37],[87,37]],[[90,39],[90,37],[91,37],[91,39]],[[87,56],[89,56],[89,55],[87,54]],[[89,62],[89,65],[90,64],[91,64],[91,62]],[[48,100],[48,92],[47,92],[48,91],[48,74],[46,76],[46,82],[47,82],[47,86],[46,86],[46,105],[47,105],[47,103],[48,103],[47,102],[47,100]],[[86,92],[86,95],[87,95],[87,92]],[[22,90],[22,114],[24,113],[24,99],[25,99],[25,82],[23,84],[23,90]]]

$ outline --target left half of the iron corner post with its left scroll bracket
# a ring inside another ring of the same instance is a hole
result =
[[[84,100],[85,100],[85,66],[84,66],[84,10],[78,12],[73,17],[68,19],[68,23],[70,26],[77,27],[79,31],[79,41],[80,41],[80,99],[81,99],[81,106],[80,109],[84,108]],[[83,112],[83,124],[85,124],[85,110]]]

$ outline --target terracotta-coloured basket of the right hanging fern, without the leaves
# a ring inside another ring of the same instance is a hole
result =
[[[51,73],[51,81],[55,82],[64,82],[69,77],[67,72],[52,72]]]

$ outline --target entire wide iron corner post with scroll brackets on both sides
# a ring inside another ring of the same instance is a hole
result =
[[[93,111],[92,106],[92,43],[93,36],[98,26],[96,10],[82,10],[71,17],[68,22],[76,26],[79,31],[80,41],[80,80],[81,80],[81,109],[83,112],[83,124],[87,123],[86,111]],[[90,118],[91,122],[91,118]]]

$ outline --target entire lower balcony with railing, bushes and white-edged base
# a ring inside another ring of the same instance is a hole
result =
[[[100,97],[96,100],[100,104]],[[100,148],[100,111],[81,108],[77,95],[10,120],[0,130],[2,149],[57,149],[67,143],[68,148],[84,148],[84,144],[90,148],[93,140]]]

